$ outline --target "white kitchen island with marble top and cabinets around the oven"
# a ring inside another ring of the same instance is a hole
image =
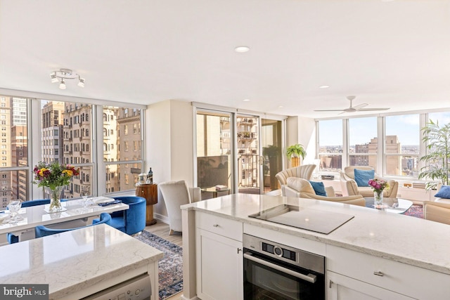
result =
[[[352,219],[323,234],[249,217],[281,204],[314,211],[315,216],[338,213]],[[239,265],[244,233],[325,256],[326,299],[445,299],[450,294],[450,226],[446,224],[350,204],[265,195],[228,195],[181,208],[183,228],[187,228],[183,232],[184,299],[220,299],[208,294],[211,289],[202,273],[214,278],[214,268],[222,272],[234,261],[235,296],[243,298]],[[237,247],[236,258],[225,259],[217,253],[208,258],[201,248],[204,235],[217,237],[222,245],[218,249],[224,249],[226,242],[230,249]],[[204,262],[212,259],[215,266],[208,269]],[[222,292],[220,287],[215,289]]]

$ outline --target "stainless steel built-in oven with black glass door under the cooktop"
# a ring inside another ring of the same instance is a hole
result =
[[[325,257],[243,236],[244,299],[325,299]]]

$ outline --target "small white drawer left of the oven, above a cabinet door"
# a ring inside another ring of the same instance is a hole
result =
[[[242,242],[243,224],[238,221],[195,211],[195,226]]]

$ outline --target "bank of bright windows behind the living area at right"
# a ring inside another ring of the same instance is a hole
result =
[[[364,165],[373,167],[380,176],[417,178],[419,158],[426,154],[420,133],[428,119],[448,124],[450,112],[317,120],[321,172],[338,174],[345,166]],[[341,148],[342,167],[333,163]]]

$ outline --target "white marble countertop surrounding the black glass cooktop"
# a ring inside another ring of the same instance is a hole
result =
[[[279,204],[333,211],[349,214],[354,218],[325,235],[248,217]],[[350,204],[266,195],[227,195],[186,204],[181,209],[205,211],[227,219],[450,274],[450,226],[442,223]]]

